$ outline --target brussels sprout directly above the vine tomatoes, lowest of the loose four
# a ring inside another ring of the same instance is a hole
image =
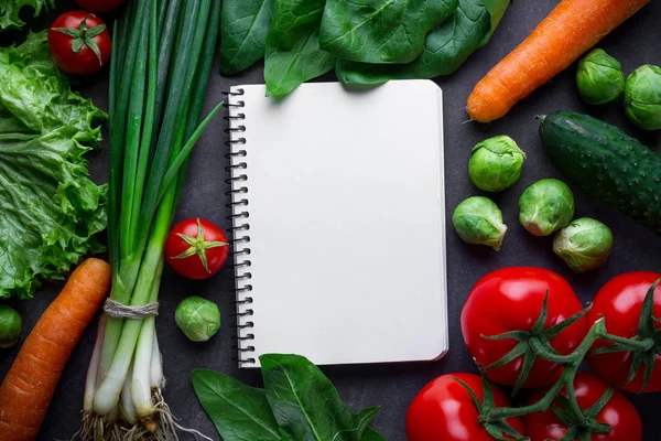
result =
[[[575,272],[604,265],[613,248],[613,233],[599,220],[582,217],[563,228],[553,239],[553,252]]]

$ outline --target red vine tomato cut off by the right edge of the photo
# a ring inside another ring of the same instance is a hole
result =
[[[661,279],[657,272],[627,272],[611,279],[595,297],[593,308],[587,314],[588,323],[594,323],[600,316],[606,318],[606,330],[609,334],[620,337],[633,337],[638,334],[638,323],[642,302],[651,286]],[[661,286],[654,291],[654,316],[661,316]],[[655,323],[661,329],[661,323]],[[611,343],[600,340],[595,348]],[[631,353],[617,352],[610,354],[590,355],[587,358],[595,374],[605,378],[620,389],[640,392],[643,385],[644,366],[640,366],[633,380],[626,384],[631,370]],[[654,370],[646,392],[661,391],[661,355],[655,355]]]

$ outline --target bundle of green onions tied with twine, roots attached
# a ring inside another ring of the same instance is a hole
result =
[[[110,299],[158,302],[163,248],[201,122],[220,0],[132,0],[110,65]],[[86,380],[83,439],[177,439],[163,400],[155,316],[104,315]]]

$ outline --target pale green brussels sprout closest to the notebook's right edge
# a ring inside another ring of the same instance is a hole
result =
[[[452,224],[467,244],[486,245],[496,251],[502,247],[507,233],[498,205],[481,196],[468,197],[462,202],[452,215]]]

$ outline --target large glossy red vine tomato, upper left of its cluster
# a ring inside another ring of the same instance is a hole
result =
[[[462,311],[462,333],[470,355],[481,366],[489,366],[514,348],[517,341],[487,340],[509,331],[530,331],[540,316],[544,297],[549,292],[549,329],[583,309],[570,283],[555,272],[542,268],[503,268],[480,279]],[[587,333],[585,318],[562,331],[550,341],[562,355],[571,354]],[[520,356],[505,366],[487,370],[487,376],[502,385],[514,385],[521,372]],[[535,359],[523,387],[550,386],[560,377],[562,367]]]

